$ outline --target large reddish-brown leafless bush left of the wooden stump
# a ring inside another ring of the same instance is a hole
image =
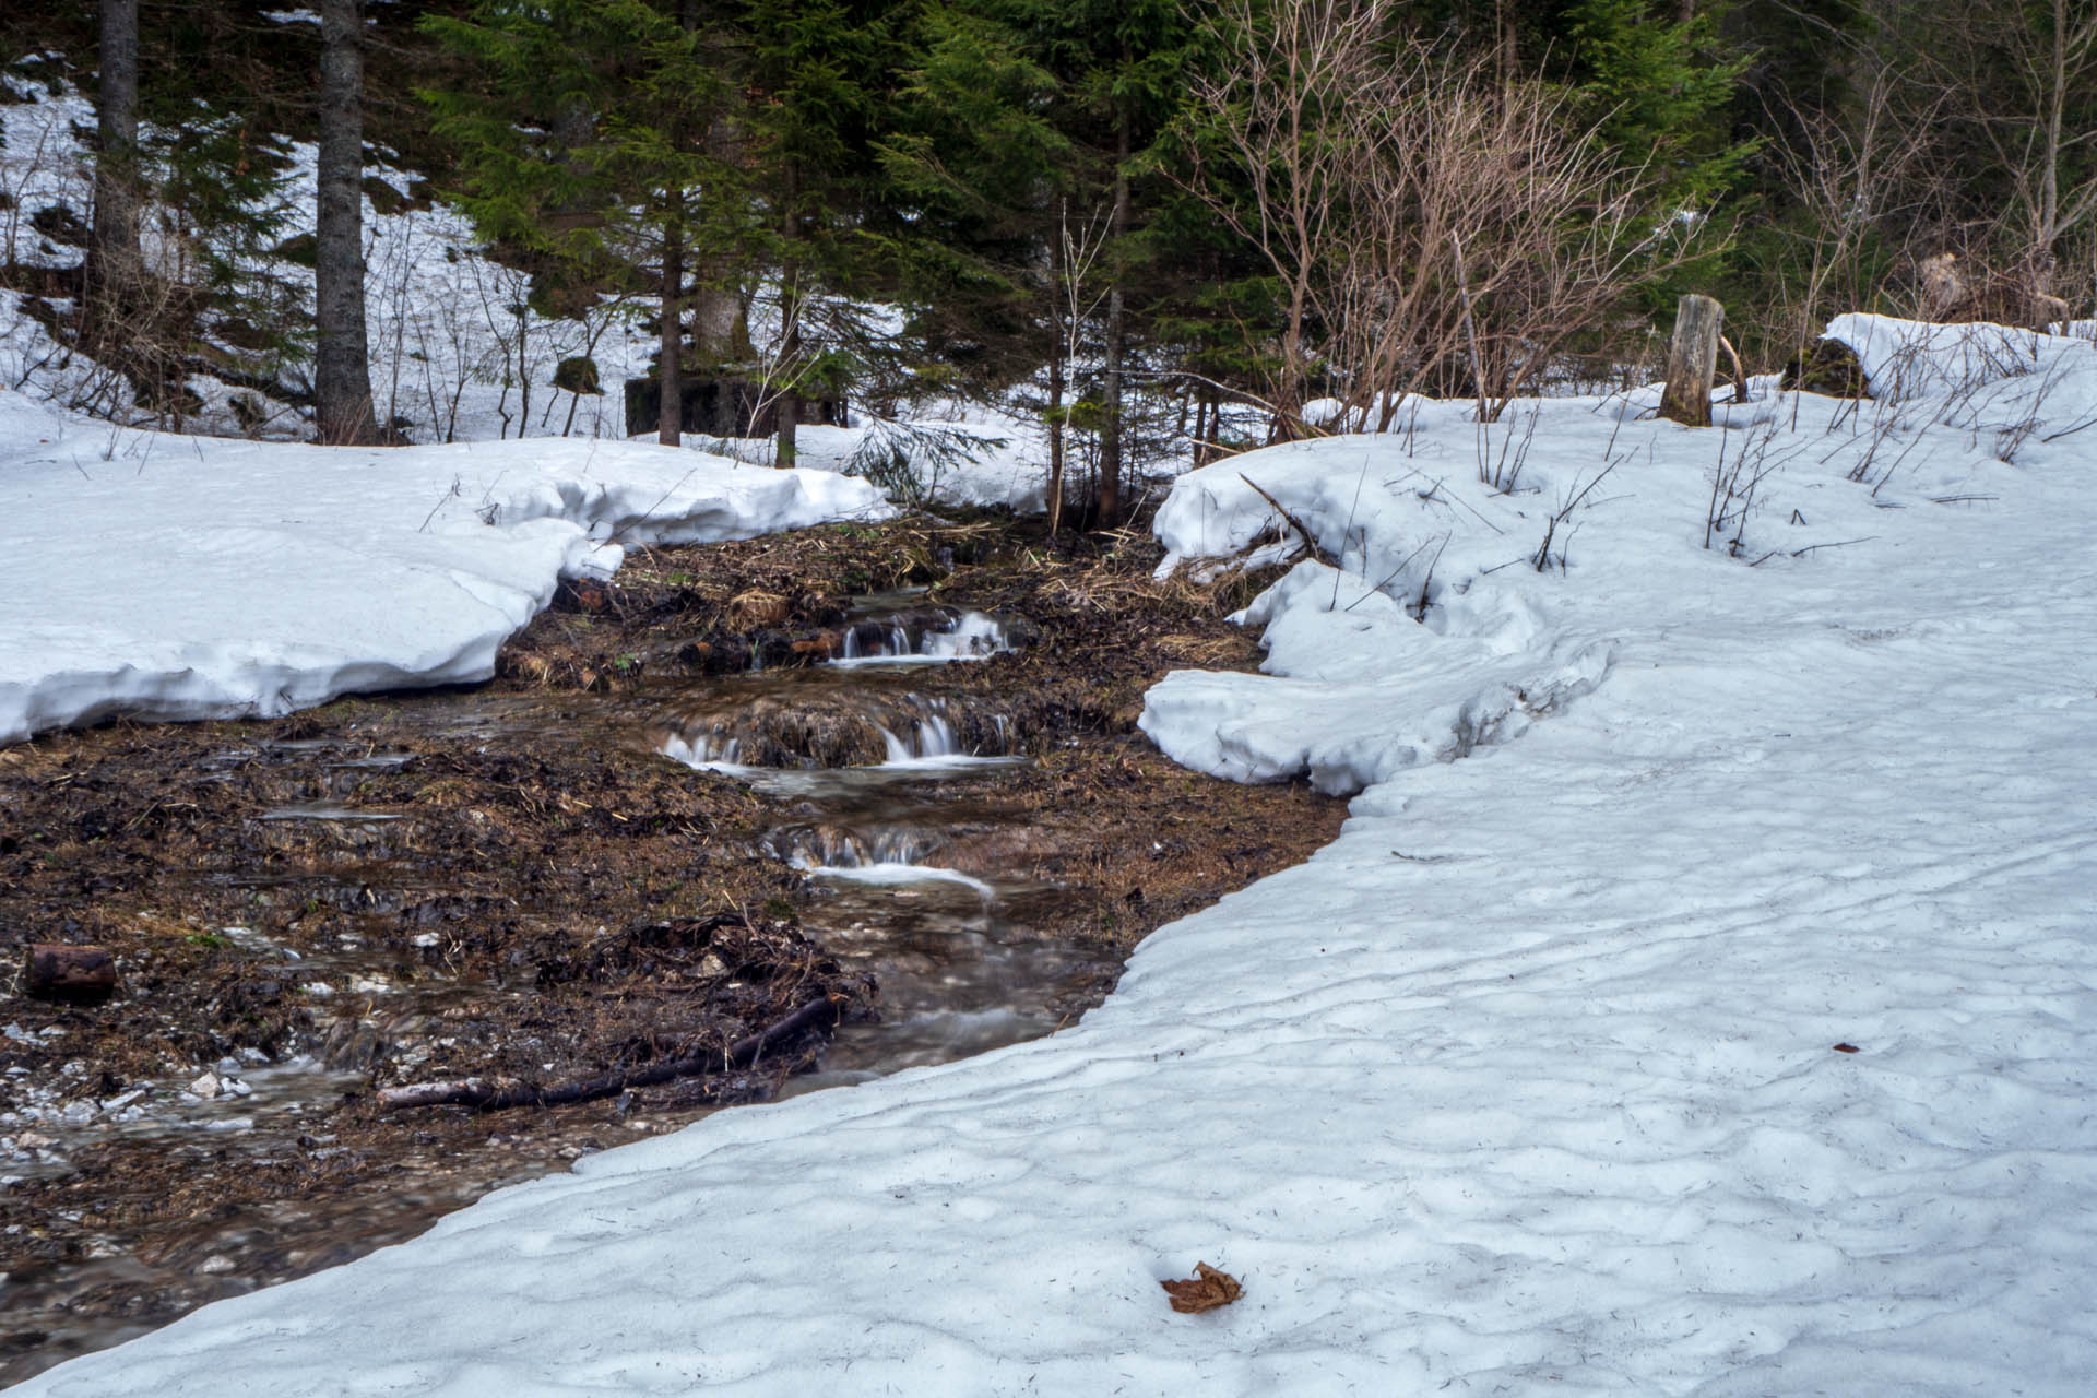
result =
[[[1227,59],[1199,80],[1216,115],[1187,187],[1279,279],[1290,434],[1317,369],[1357,428],[1415,388],[1497,419],[1696,233],[1655,220],[1648,172],[1562,90],[1403,36],[1392,0],[1225,0],[1202,25]]]

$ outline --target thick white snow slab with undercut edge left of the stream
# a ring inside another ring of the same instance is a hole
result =
[[[637,442],[325,449],[111,430],[0,394],[0,742],[487,679],[625,545],[893,514],[864,480]]]

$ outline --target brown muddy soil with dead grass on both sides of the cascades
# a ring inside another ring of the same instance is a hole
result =
[[[0,1174],[19,1172],[0,1188],[0,1383],[770,1096],[820,1035],[558,1109],[388,1113],[377,1086],[575,1082],[726,1046],[812,993],[879,1014],[879,987],[797,931],[822,891],[768,843],[797,811],[661,757],[652,727],[692,675],[837,654],[853,593],[921,585],[912,606],[1030,622],[1025,650],[918,687],[965,721],[996,711],[1032,757],[994,794],[1021,820],[958,822],[944,861],[1063,884],[1038,935],[1126,949],[1327,843],[1340,803],[1189,773],[1134,729],[1168,669],[1258,658],[1220,620],[1254,581],[1195,589],[1153,581],[1153,564],[1139,537],[1074,553],[1000,520],[661,549],[617,583],[564,587],[478,690],[0,750],[0,958],[101,945],[122,975],[101,1006],[0,1006],[0,1111],[187,1084],[226,1056],[315,1054],[342,1073],[268,1134],[61,1149],[0,1123],[17,1138]],[[770,761],[822,755],[774,727]],[[1082,987],[1069,1012],[1107,989]]]

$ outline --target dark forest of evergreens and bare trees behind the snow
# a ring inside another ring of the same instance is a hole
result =
[[[1114,524],[1151,463],[1390,430],[1407,392],[1491,419],[1652,377],[1682,291],[1753,371],[1841,310],[2097,296],[2097,0],[36,8],[0,90],[92,126],[0,151],[44,346],[8,388],[176,430],[449,440],[499,377],[503,434],[512,390],[564,434],[623,331],[625,430],[679,442],[700,390],[784,465],[839,402],[996,402],[1053,507]],[[499,272],[501,354],[401,337],[373,392],[411,210]]]

